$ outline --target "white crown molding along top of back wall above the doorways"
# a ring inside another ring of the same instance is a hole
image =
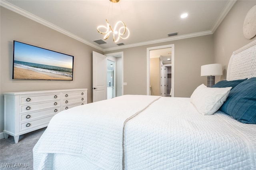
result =
[[[105,49],[103,49],[103,51],[105,52],[105,51],[112,51],[112,50],[117,50],[117,49],[138,47],[138,46],[142,46],[142,45],[150,45],[150,44],[154,44],[154,43],[170,42],[170,41],[174,41],[174,40],[182,40],[182,39],[186,39],[186,38],[206,36],[206,35],[210,35],[210,34],[212,34],[212,32],[210,30],[209,31],[203,31],[203,32],[196,32],[196,33],[192,33],[192,34],[185,34],[185,35],[174,36],[174,37],[170,37],[170,38],[162,38],[162,39],[152,40],[152,41],[147,41],[147,42],[133,43],[133,44],[129,44],[129,45],[122,45],[121,47],[105,48]]]

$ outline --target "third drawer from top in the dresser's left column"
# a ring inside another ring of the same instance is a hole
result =
[[[40,117],[46,117],[48,115],[55,115],[60,112],[60,107],[55,107],[47,110],[41,110],[37,112],[27,113],[20,115],[20,123],[24,121],[33,121],[34,119],[38,119]]]

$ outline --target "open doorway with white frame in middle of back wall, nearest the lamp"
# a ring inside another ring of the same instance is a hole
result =
[[[147,95],[174,97],[174,44],[147,48]]]

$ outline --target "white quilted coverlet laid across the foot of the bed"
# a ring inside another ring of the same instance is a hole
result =
[[[33,149],[34,169],[52,169],[51,153],[82,157],[101,169],[122,169],[124,123],[159,99],[135,96],[90,103],[55,115]]]

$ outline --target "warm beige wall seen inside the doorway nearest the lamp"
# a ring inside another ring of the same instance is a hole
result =
[[[151,58],[150,59],[150,86],[151,86],[151,95],[153,96],[160,96],[161,89],[160,89],[160,76],[161,76],[161,63],[160,59],[158,58]]]

